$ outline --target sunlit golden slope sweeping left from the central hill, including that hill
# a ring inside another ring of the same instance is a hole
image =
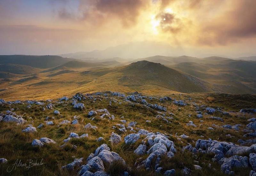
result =
[[[149,63],[149,62],[147,62]],[[37,77],[30,82],[14,86],[13,81],[5,82],[0,85],[7,90],[0,92],[1,97],[6,99],[46,99],[53,98],[55,95],[74,94],[79,91],[119,91],[134,92],[143,91],[145,93],[170,93],[170,92],[203,92],[197,81],[189,80],[186,74],[164,67],[156,63],[150,63],[148,68],[134,68],[133,65],[104,68],[100,70],[91,69],[83,72],[63,73],[58,70],[54,72],[39,73]],[[136,67],[137,67],[136,66]],[[88,70],[89,68],[83,68]],[[76,71],[76,69],[74,69]],[[81,71],[82,69],[80,69]],[[153,71],[153,72],[152,72]],[[52,76],[52,77],[49,77]],[[129,79],[126,79],[128,76]],[[180,81],[181,80],[181,81]],[[48,94],[51,90],[51,94]]]

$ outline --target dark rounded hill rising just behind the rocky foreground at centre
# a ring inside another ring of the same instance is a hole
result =
[[[129,85],[156,85],[177,92],[206,92],[205,82],[180,73],[160,63],[138,61],[118,70],[123,73],[119,82]]]

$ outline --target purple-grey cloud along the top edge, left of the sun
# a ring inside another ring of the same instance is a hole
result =
[[[79,1],[76,12],[68,11],[68,0],[55,0],[63,7],[58,10],[62,20],[87,22],[90,25],[102,26],[112,20],[118,20],[123,27],[131,27],[138,22],[141,10],[150,0],[87,0]]]

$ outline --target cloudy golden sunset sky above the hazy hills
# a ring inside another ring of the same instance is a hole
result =
[[[154,44],[141,48],[145,55],[253,56],[255,7],[255,0],[0,0],[0,54],[89,52],[134,43],[140,50],[148,42]]]

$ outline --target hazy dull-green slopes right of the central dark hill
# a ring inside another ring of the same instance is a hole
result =
[[[255,93],[255,61],[223,60],[222,64],[187,62],[169,66],[211,83],[217,92]]]

